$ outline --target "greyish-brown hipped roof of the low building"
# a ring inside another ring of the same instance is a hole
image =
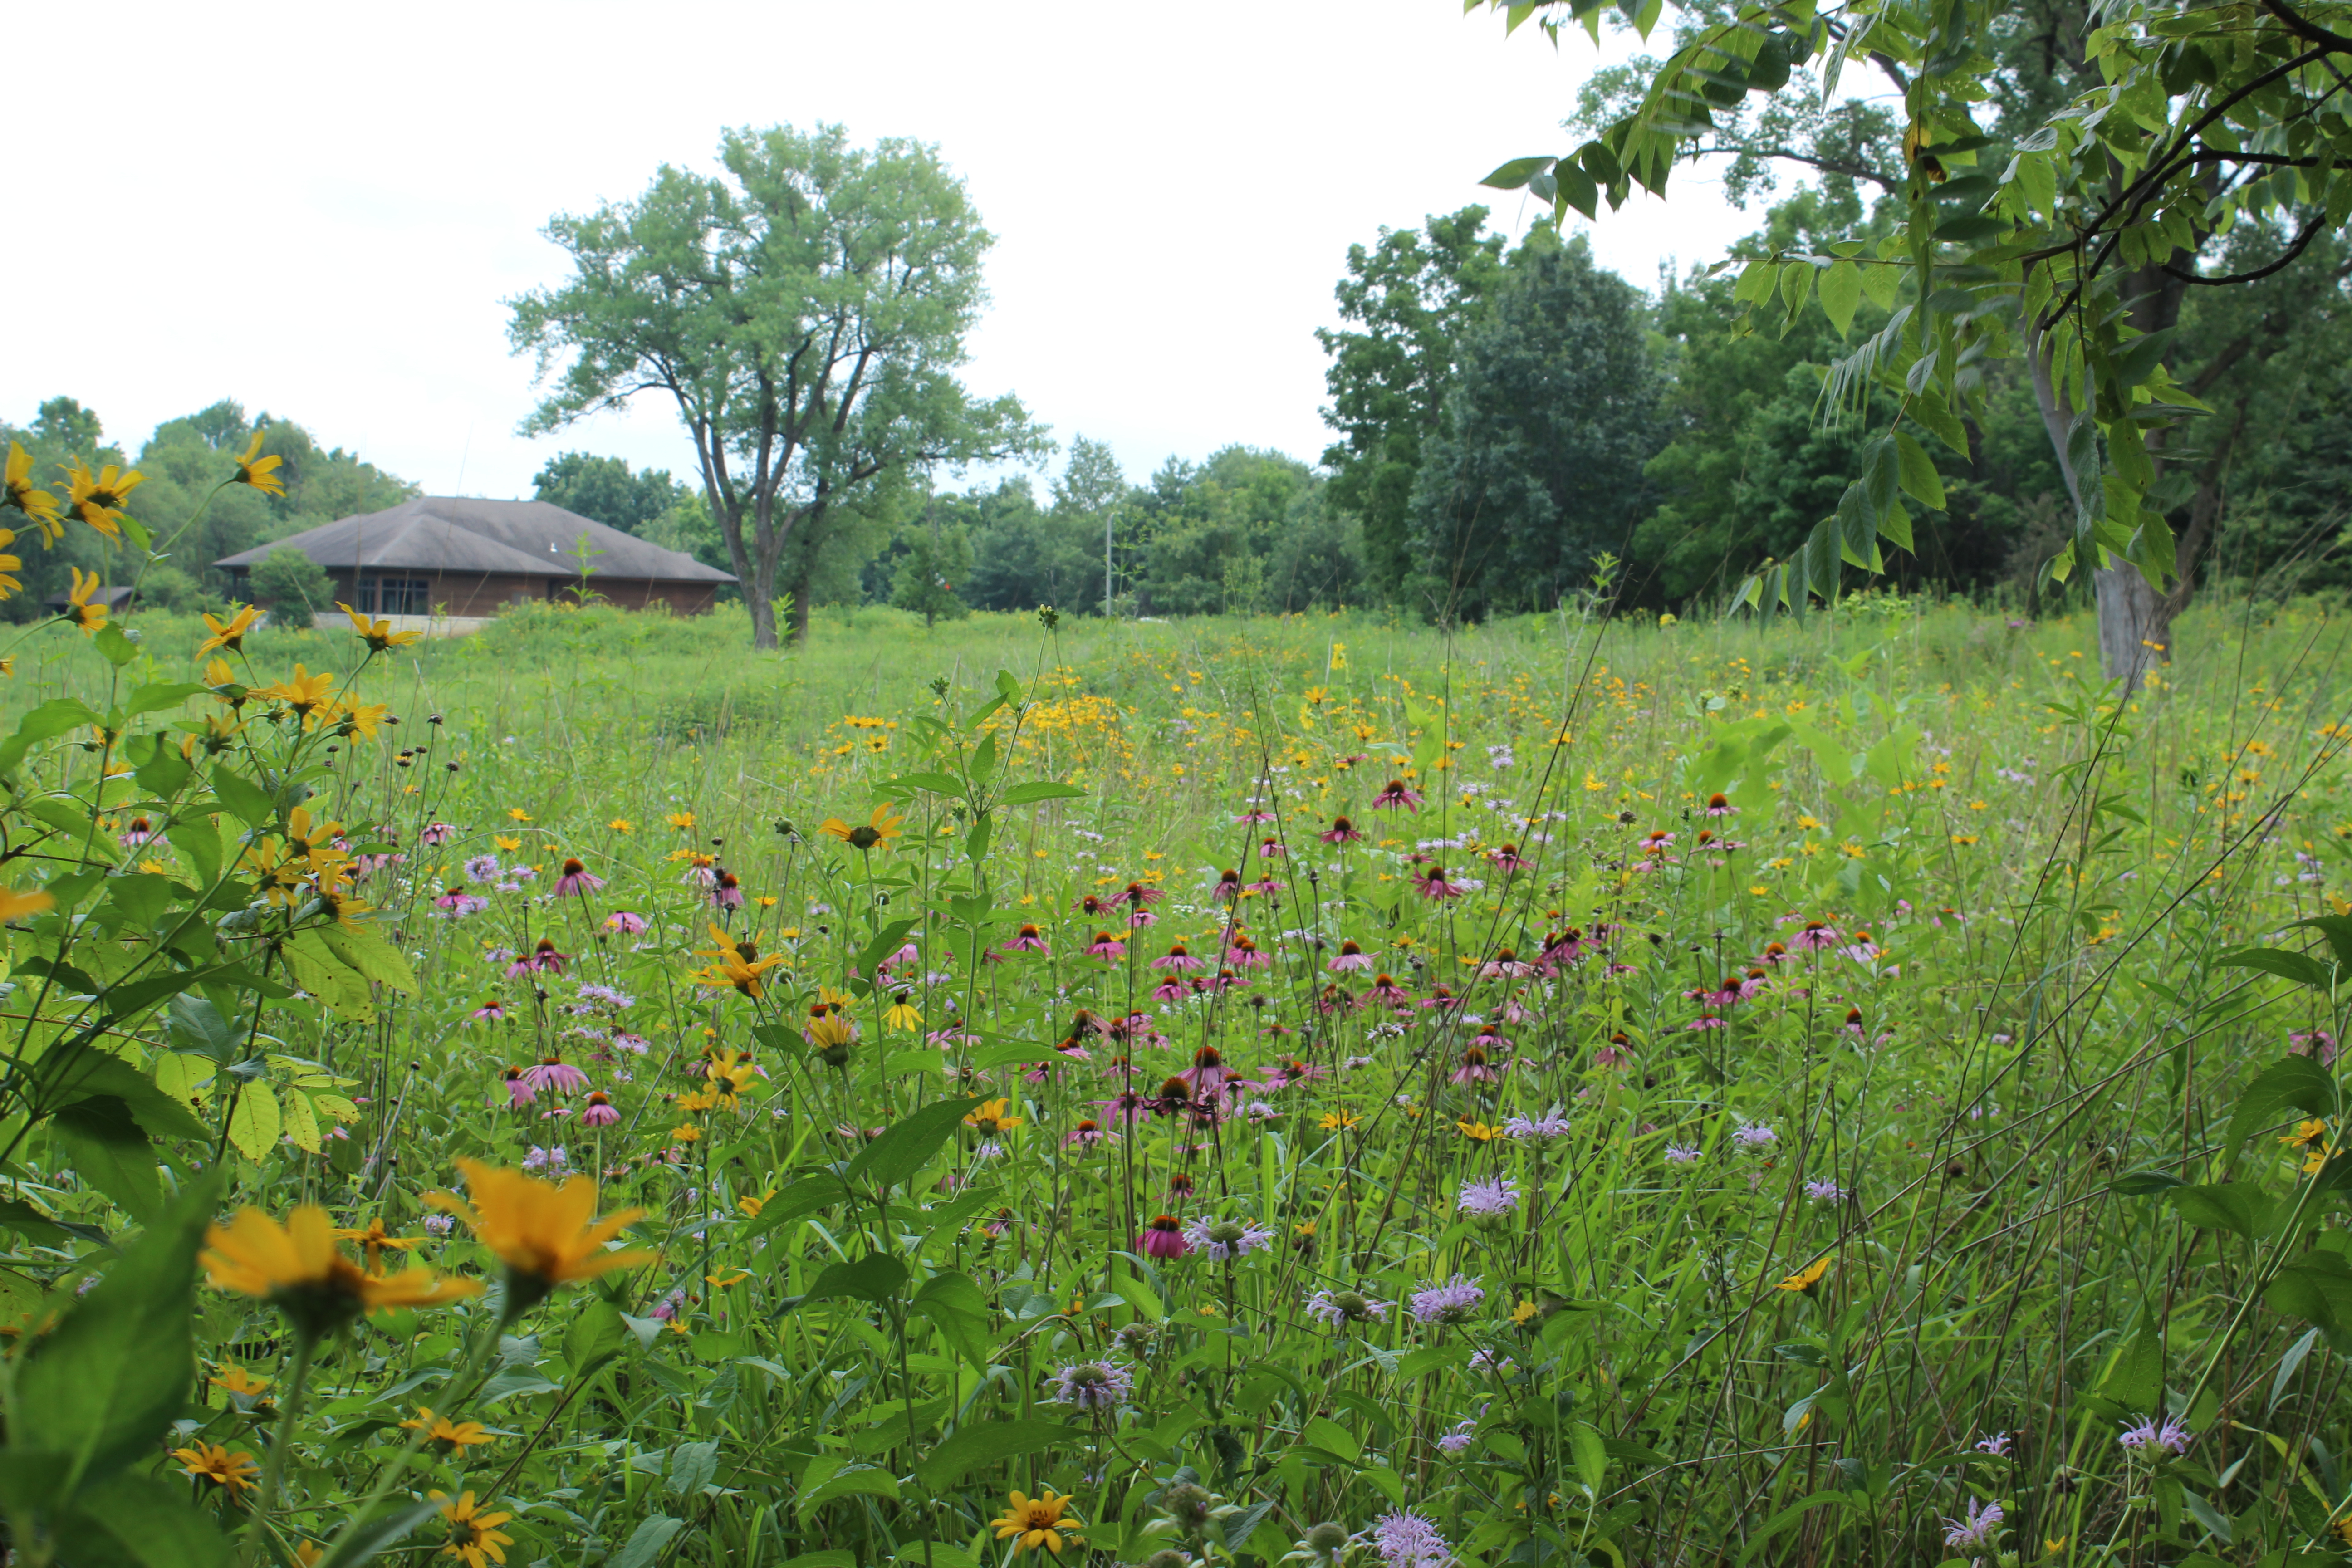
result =
[[[734,583],[731,571],[706,567],[691,555],[609,529],[593,517],[567,512],[553,501],[477,501],[470,496],[419,496],[381,512],[339,517],[327,527],[273,538],[238,550],[214,567],[256,567],[270,550],[294,548],[329,571],[393,569],[449,576],[579,576],[581,534],[588,536],[588,569],[595,576],[652,583]]]

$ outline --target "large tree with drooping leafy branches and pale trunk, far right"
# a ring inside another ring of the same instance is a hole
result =
[[[1491,5],[1555,33],[1597,35],[1604,14],[1604,0]],[[1644,31],[1661,14],[1644,9]],[[1987,364],[2023,360],[2072,501],[2051,571],[2093,574],[2107,672],[2138,682],[2244,442],[2232,386],[2298,315],[2249,296],[2234,331],[2194,331],[2232,313],[2187,310],[2190,294],[2300,263],[2324,268],[2317,294],[2336,303],[2345,277],[2326,240],[2352,212],[2352,0],[1700,0],[1677,7],[1675,38],[1606,122],[1588,115],[1588,141],[1489,183],[1590,219],[1722,153],[1889,190],[1882,233],[1745,259],[1738,299],[1759,327],[1813,301],[1839,334],[1863,299],[1889,317],[1825,388],[1832,411],[1875,423],[1858,473],[1743,597],[1804,609],[1835,597],[1844,567],[1879,569],[1879,541],[1907,548],[1910,505],[1945,503],[1926,444],[1969,456]],[[1898,169],[1870,158],[1870,118],[1837,108],[1860,71],[1900,99]]]

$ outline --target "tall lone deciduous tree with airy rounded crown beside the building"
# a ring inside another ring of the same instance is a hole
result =
[[[990,235],[938,153],[887,139],[734,129],[722,174],[663,167],[630,202],[557,216],[574,275],[510,301],[517,353],[553,393],[527,433],[637,393],[668,395],[694,437],[710,515],[776,646],[788,555],[793,635],[818,552],[788,552],[889,475],[1023,456],[1044,444],[1014,397],[957,381],[985,292]]]

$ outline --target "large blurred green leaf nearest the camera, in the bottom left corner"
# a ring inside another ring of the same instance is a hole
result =
[[[66,1455],[59,1502],[155,1453],[195,1382],[195,1248],[216,1182],[193,1182],[16,1371],[16,1408]]]

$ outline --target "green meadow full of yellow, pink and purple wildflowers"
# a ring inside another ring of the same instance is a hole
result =
[[[19,1561],[2352,1540],[2319,611],[132,625],[0,715]]]

